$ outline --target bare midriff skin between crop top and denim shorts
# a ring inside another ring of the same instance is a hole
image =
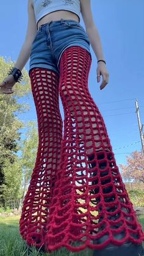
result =
[[[38,21],[37,27],[39,28],[42,24],[48,23],[50,21],[56,20],[76,20],[79,22],[79,17],[73,13],[69,12],[68,10],[56,10],[56,12],[51,12],[45,15]]]

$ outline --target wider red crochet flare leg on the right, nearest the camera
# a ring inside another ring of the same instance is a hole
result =
[[[62,246],[70,251],[87,246],[100,250],[127,241],[140,244],[143,239],[103,117],[88,90],[91,61],[90,54],[79,46],[66,49],[60,60],[65,119],[46,225],[49,251]]]

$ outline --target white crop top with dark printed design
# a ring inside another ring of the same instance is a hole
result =
[[[34,12],[36,23],[48,13],[56,10],[69,10],[79,17],[81,13],[80,0],[34,0]]]

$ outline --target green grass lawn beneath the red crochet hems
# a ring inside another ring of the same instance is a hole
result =
[[[90,249],[81,252],[69,252],[63,248],[54,254],[38,252],[35,247],[31,251],[27,249],[26,242],[22,240],[19,233],[19,219],[20,216],[9,216],[7,218],[0,218],[0,256],[92,256],[93,252]],[[144,216],[139,217],[140,223],[144,229]]]

